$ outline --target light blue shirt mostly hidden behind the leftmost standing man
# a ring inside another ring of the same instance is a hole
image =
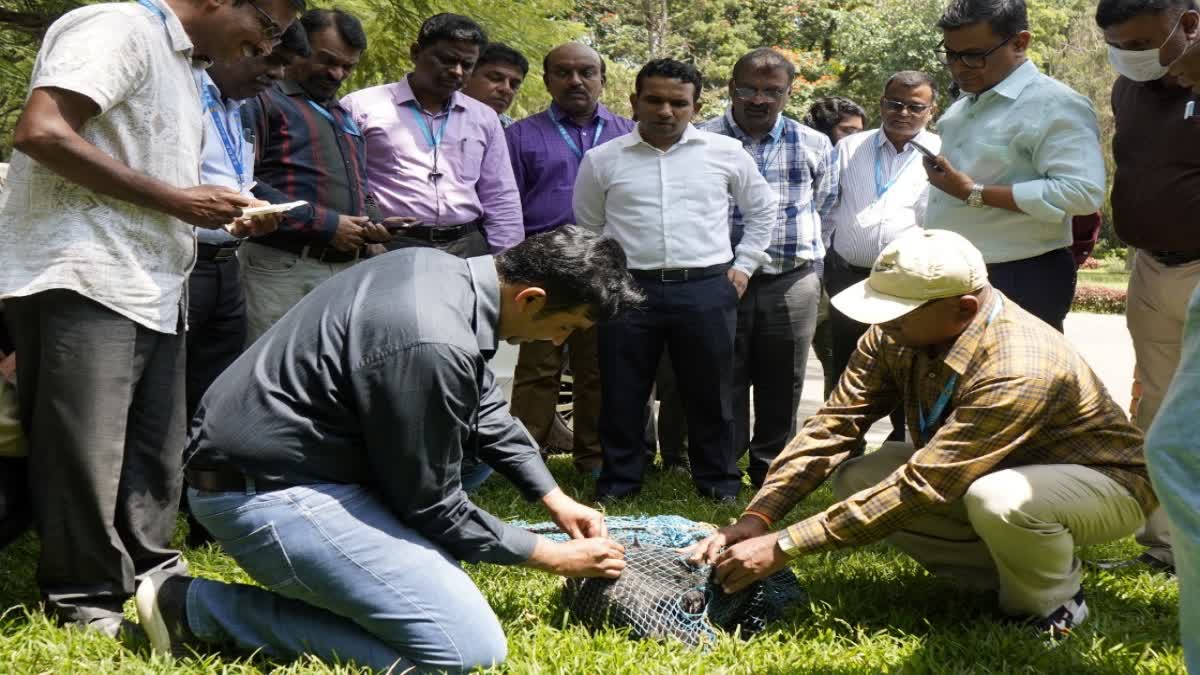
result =
[[[208,71],[203,68],[196,68],[196,85],[200,88],[202,102],[205,100],[204,89],[211,88],[209,91],[214,92],[214,98],[223,107],[221,113],[222,121],[230,132],[238,135],[232,136],[230,141],[234,144],[234,149],[241,151],[244,172],[239,181],[238,172],[234,169],[233,162],[226,153],[224,143],[221,141],[221,135],[217,131],[216,118],[205,108],[204,145],[200,149],[200,185],[221,185],[236,190],[247,197],[253,197],[250,193],[250,186],[254,183],[254,142],[251,138],[246,138],[242,131],[239,110],[244,101],[232,101],[221,97],[221,91],[217,89],[216,83],[209,77]],[[222,244],[235,239],[233,234],[229,234],[223,228],[208,229],[204,227],[196,228],[196,238],[202,244]]]

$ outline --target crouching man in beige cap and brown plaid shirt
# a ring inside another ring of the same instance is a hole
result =
[[[896,239],[833,304],[874,325],[742,518],[694,560],[737,591],[799,555],[886,538],[934,574],[997,591],[1006,614],[1069,633],[1087,617],[1075,546],[1132,534],[1156,504],[1141,432],[958,234]],[[896,405],[914,446],[863,454]],[[838,503],[767,533],[830,476]]]

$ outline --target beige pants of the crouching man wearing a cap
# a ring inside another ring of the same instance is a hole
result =
[[[912,456],[907,443],[844,464],[834,496],[871,488]],[[1014,616],[1046,616],[1080,587],[1075,546],[1132,534],[1145,520],[1121,484],[1080,465],[1031,465],[989,473],[959,501],[928,509],[886,540],[931,573],[996,590]]]

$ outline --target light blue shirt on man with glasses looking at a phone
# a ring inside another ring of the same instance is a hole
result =
[[[937,123],[942,154],[980,185],[1012,185],[1021,211],[976,209],[930,189],[926,228],[966,237],[988,263],[1070,245],[1072,216],[1104,202],[1104,156],[1091,101],[1025,61],[1000,84],[962,96]]]

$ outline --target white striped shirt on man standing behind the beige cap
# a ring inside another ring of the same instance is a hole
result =
[[[932,153],[942,139],[928,131],[913,138]],[[870,268],[883,247],[913,227],[923,227],[929,178],[922,156],[904,151],[875,129],[847,136],[835,150],[841,185],[833,221],[833,250],[854,267]]]

